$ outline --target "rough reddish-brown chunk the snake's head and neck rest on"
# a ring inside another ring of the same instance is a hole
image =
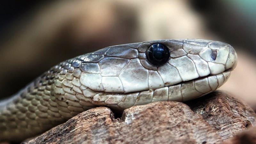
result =
[[[255,118],[242,101],[213,92],[186,104],[134,106],[120,119],[109,108],[93,108],[24,143],[220,143]]]

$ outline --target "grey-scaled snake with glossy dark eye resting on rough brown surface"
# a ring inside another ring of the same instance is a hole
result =
[[[22,141],[95,107],[116,111],[156,101],[188,101],[223,85],[234,48],[203,39],[109,46],[50,68],[0,101],[0,141]]]

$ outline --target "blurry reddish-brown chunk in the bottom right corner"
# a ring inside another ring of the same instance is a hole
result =
[[[253,144],[256,143],[256,127],[237,134],[235,137],[228,139],[224,144]]]

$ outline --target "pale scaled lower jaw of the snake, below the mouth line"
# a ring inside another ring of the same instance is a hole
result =
[[[230,69],[220,74],[208,75],[154,90],[130,93],[101,92],[92,98],[92,104],[123,111],[132,106],[156,101],[188,101],[215,91],[228,80],[229,76]]]

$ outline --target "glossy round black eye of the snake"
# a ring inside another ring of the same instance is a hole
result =
[[[161,66],[169,60],[170,51],[163,44],[152,44],[148,47],[146,55],[152,65]]]

